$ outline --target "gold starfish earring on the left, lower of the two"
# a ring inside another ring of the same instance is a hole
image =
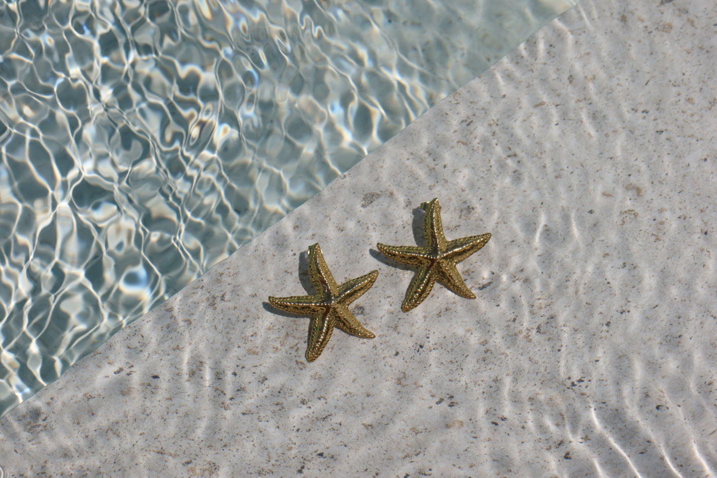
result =
[[[316,288],[313,296],[270,297],[269,303],[292,314],[311,316],[306,361],[313,362],[321,355],[331,339],[333,327],[361,339],[373,339],[374,332],[366,329],[348,310],[348,304],[359,299],[374,285],[379,271],[351,279],[339,286],[333,280],[318,244],[309,246],[309,276]]]

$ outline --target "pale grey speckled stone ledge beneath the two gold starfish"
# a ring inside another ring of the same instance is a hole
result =
[[[717,10],[585,0],[0,419],[10,477],[717,473]],[[400,310],[376,243],[493,233]],[[307,364],[320,243],[379,270]]]

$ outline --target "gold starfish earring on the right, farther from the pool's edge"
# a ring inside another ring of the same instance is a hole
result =
[[[381,254],[387,258],[411,266],[419,266],[419,271],[406,291],[401,309],[407,312],[420,304],[436,281],[447,289],[466,299],[475,299],[468,289],[456,264],[478,251],[490,240],[490,233],[471,235],[467,238],[446,240],[441,222],[441,206],[438,199],[423,202],[421,209],[426,212],[423,220],[423,233],[426,245],[385,245],[378,243]]]

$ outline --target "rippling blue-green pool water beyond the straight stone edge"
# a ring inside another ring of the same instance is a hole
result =
[[[574,3],[0,6],[0,415]]]

